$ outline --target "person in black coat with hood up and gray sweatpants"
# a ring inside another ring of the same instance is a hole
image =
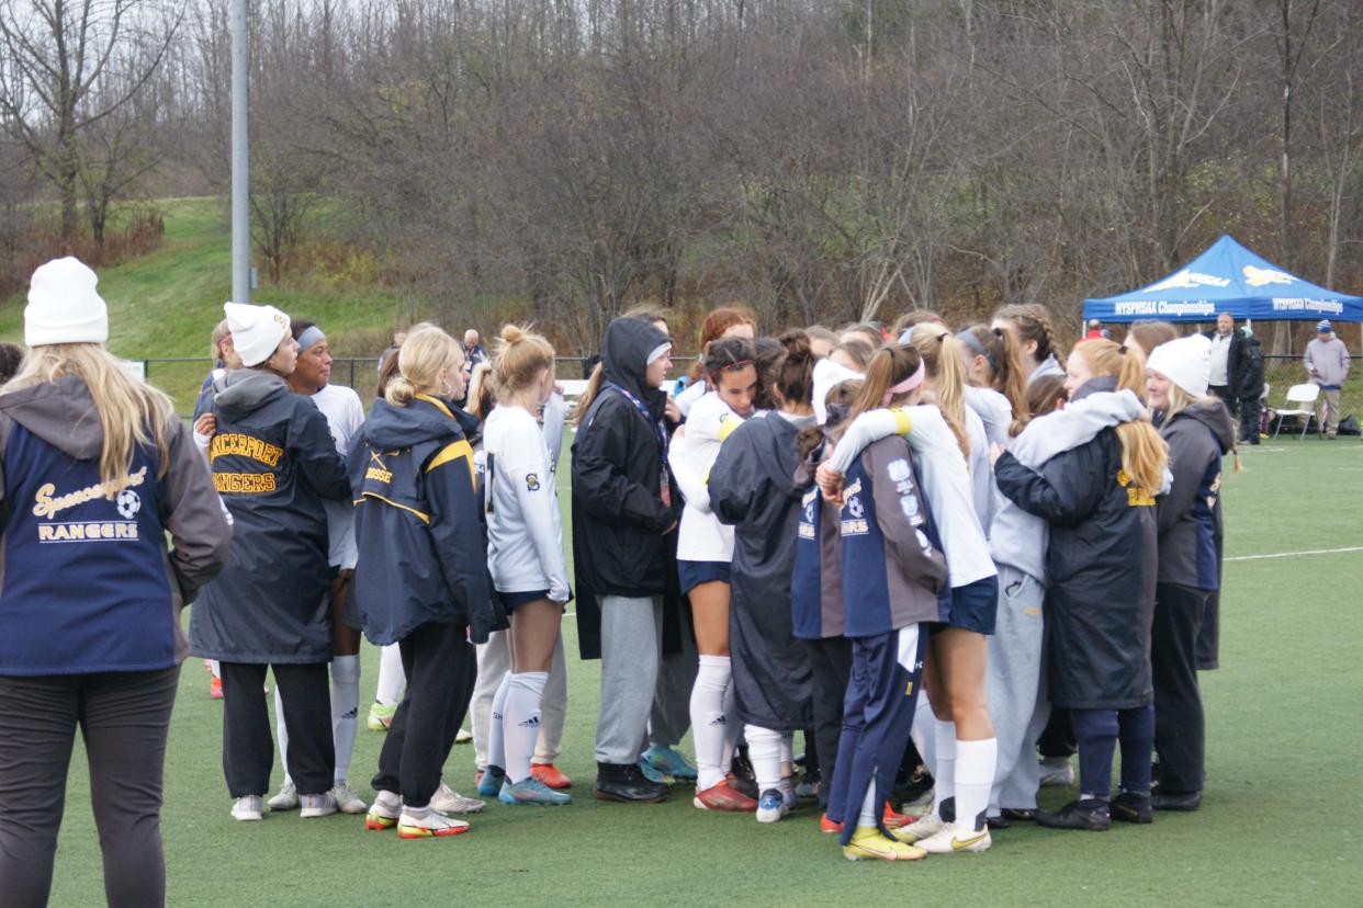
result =
[[[662,596],[676,573],[669,536],[682,510],[661,391],[672,344],[654,325],[622,317],[601,348],[601,391],[572,442],[578,611],[600,607],[596,796],[657,802],[668,788],[643,777],[638,761],[658,679]]]

